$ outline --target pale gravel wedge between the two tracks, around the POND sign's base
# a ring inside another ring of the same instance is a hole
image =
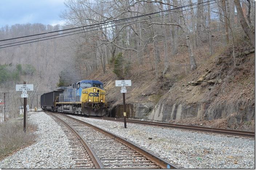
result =
[[[255,169],[255,140],[72,116],[124,137],[186,169]]]

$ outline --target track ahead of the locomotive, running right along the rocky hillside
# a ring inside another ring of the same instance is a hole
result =
[[[101,120],[124,121],[124,119],[122,119],[122,118],[91,117],[91,116],[87,116],[87,117],[101,119]],[[220,134],[255,138],[254,131],[240,131],[240,130],[232,130],[232,129],[208,128],[208,127],[203,127],[203,126],[167,124],[167,123],[160,123],[160,122],[148,122],[148,121],[139,121],[139,120],[131,120],[131,119],[126,119],[126,122],[136,123],[136,124],[144,124],[144,125],[152,125],[152,126],[160,126],[160,127],[165,127],[165,128],[180,128],[180,129],[193,130],[193,131],[204,131],[207,133],[220,133]]]

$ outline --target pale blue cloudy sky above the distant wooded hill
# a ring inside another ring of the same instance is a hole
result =
[[[5,25],[65,24],[59,15],[65,0],[0,0],[0,28]]]

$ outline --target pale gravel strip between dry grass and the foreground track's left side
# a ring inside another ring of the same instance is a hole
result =
[[[36,142],[0,161],[0,168],[74,168],[68,139],[61,127],[44,112],[28,114],[28,121],[38,126]]]

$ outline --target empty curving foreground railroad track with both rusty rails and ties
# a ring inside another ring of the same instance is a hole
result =
[[[52,114],[52,113],[51,113]],[[70,126],[83,140],[87,146],[87,151],[94,153],[89,164],[92,168],[125,168],[125,169],[159,169],[159,168],[179,168],[178,166],[158,157],[157,155],[127,141],[115,134],[97,128],[84,121],[77,120],[65,114],[54,113],[56,118]],[[75,148],[77,148],[75,146]],[[84,148],[86,148],[84,146]],[[78,149],[79,150],[79,149]],[[83,150],[83,148],[81,149]],[[84,154],[83,154],[84,156]],[[91,155],[90,155],[91,156]],[[85,161],[86,160],[79,160]],[[97,167],[94,163],[102,164]],[[82,162],[81,162],[82,163]],[[85,164],[80,164],[85,166]],[[94,166],[93,166],[94,165]]]

